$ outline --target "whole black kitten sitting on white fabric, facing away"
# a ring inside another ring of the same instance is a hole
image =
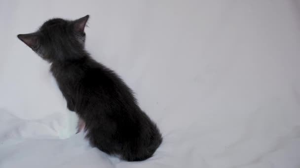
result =
[[[161,134],[131,89],[85,51],[88,18],[51,19],[38,31],[18,38],[51,63],[67,107],[84,122],[80,125],[85,125],[91,145],[127,161],[148,159],[161,144]]]

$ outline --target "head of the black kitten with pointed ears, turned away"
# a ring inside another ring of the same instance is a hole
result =
[[[89,15],[69,21],[51,19],[36,32],[19,34],[18,38],[43,59],[54,62],[78,59],[84,56],[84,28]]]

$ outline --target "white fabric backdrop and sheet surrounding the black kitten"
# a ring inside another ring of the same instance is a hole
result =
[[[87,50],[163,134],[146,161],[75,135],[49,65],[16,37],[86,14]],[[0,0],[0,22],[0,168],[300,168],[299,0]]]

